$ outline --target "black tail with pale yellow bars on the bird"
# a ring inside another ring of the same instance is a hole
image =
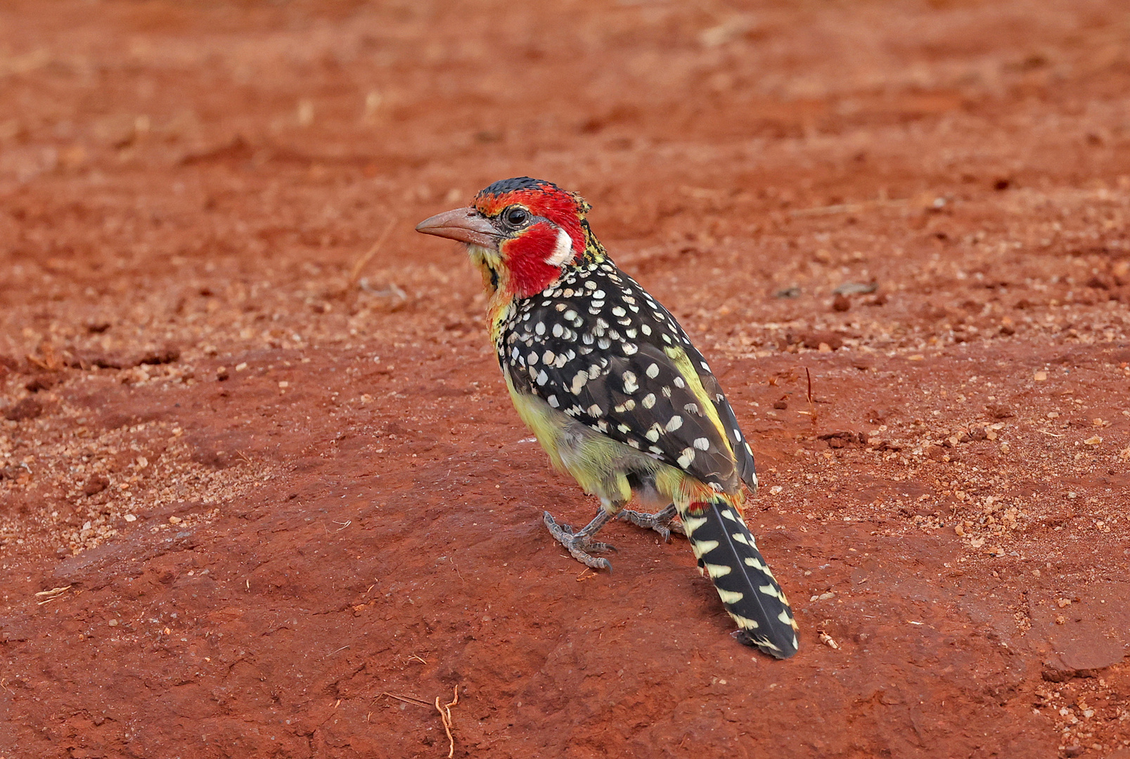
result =
[[[788,658],[797,653],[797,622],[741,512],[725,496],[679,508],[698,567],[709,574],[747,646]]]

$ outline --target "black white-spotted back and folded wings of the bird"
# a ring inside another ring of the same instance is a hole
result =
[[[590,428],[732,492],[756,483],[753,456],[710,367],[675,317],[609,260],[567,270],[515,302],[498,334],[515,390]],[[725,428],[664,349],[679,349]],[[732,451],[732,453],[731,453]]]

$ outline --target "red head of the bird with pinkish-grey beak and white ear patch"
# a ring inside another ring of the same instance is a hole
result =
[[[437,213],[416,230],[467,244],[492,295],[525,298],[585,254],[589,208],[576,193],[520,176],[495,182],[469,207]]]

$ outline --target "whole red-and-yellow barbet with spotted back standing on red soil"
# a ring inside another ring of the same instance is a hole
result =
[[[734,638],[788,658],[798,626],[742,515],[742,486],[757,489],[753,450],[706,359],[612,262],[590,210],[577,193],[521,176],[416,230],[466,245],[519,417],[554,466],[600,500],[580,530],[545,512],[553,538],[585,566],[610,570],[593,553],[615,550],[596,540],[612,518],[664,541],[686,535],[738,626]],[[627,508],[633,498],[645,511]]]

